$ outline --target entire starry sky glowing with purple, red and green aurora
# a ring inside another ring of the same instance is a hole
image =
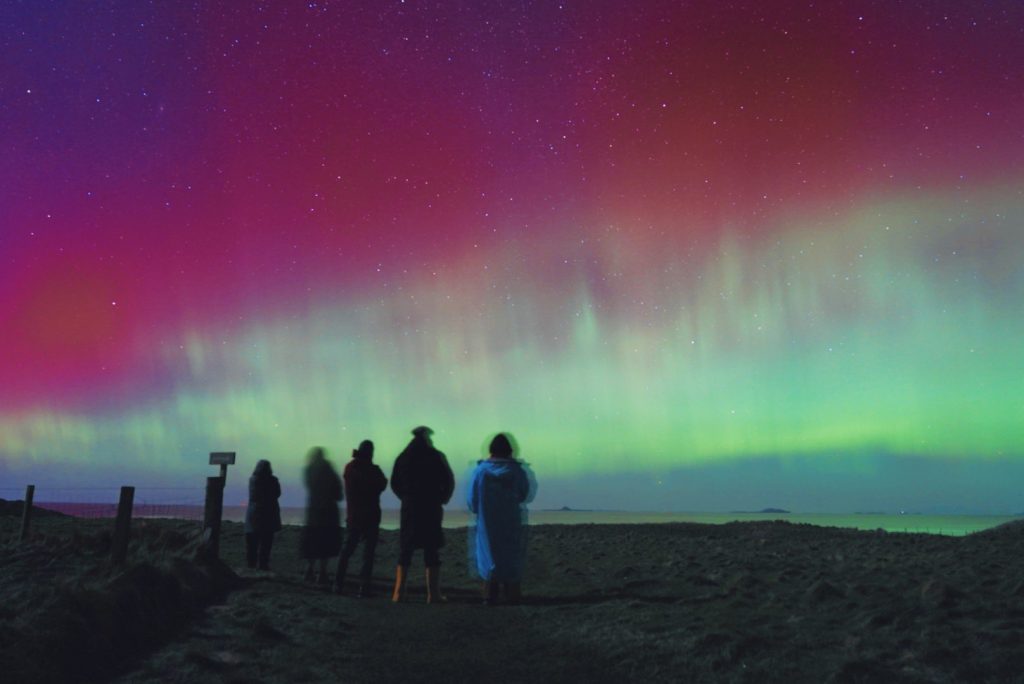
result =
[[[5,3],[0,480],[1024,510],[1024,6]],[[131,481],[121,481],[123,479]]]

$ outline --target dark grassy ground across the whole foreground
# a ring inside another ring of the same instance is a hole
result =
[[[139,521],[125,567],[110,521],[0,516],[0,679],[10,682],[1019,682],[1024,525],[969,536],[785,522],[531,529],[521,605],[483,607],[466,530],[447,531],[449,602],[305,584],[298,529],[272,570],[196,562],[195,522]],[[421,562],[417,558],[417,562]],[[353,563],[357,565],[357,563]]]

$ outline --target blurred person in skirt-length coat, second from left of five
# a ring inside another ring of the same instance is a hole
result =
[[[329,584],[327,559],[341,550],[341,519],[338,502],[341,501],[341,478],[324,448],[309,450],[309,464],[304,478],[306,483],[306,524],[302,528],[302,557],[306,559],[306,581],[313,579],[313,562],[319,561],[316,583]]]

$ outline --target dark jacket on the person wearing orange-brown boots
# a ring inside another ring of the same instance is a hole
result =
[[[455,491],[455,476],[444,455],[426,439],[414,437],[394,462],[391,490],[401,501],[401,546],[443,546],[442,507]]]

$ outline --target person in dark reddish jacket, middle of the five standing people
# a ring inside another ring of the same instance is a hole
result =
[[[334,589],[339,594],[345,590],[345,573],[348,559],[355,553],[355,547],[362,542],[362,567],[359,569],[359,593],[369,596],[374,573],[374,554],[377,551],[377,536],[381,526],[381,491],[387,487],[384,471],[374,465],[374,442],[364,439],[359,447],[352,452],[352,460],[345,466],[345,526],[348,535],[338,559],[338,574]]]

